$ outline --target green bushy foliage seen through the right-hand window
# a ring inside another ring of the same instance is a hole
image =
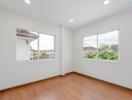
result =
[[[85,58],[89,59],[107,59],[107,60],[118,60],[118,45],[102,44],[97,50],[86,51],[84,54]]]

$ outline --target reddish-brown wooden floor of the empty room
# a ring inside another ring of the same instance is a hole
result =
[[[132,100],[132,92],[69,74],[0,93],[0,100]]]

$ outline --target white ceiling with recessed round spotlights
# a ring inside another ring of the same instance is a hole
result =
[[[31,5],[27,5],[24,0],[0,0],[0,7],[76,29],[128,10],[132,6],[132,0],[110,0],[107,6],[104,6],[104,0],[31,0],[31,2]],[[70,23],[70,19],[74,19],[75,22]]]

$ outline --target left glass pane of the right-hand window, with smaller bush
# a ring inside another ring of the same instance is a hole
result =
[[[83,38],[83,54],[85,58],[97,59],[97,35]]]

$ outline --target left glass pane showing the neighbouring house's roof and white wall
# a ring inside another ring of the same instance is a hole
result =
[[[38,33],[18,28],[16,30],[16,57],[17,60],[38,59]]]

